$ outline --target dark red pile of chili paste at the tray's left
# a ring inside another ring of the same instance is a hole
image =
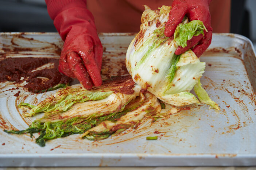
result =
[[[66,87],[72,79],[58,71],[58,62],[57,58],[46,57],[5,58],[0,61],[0,82],[14,81],[20,84],[26,81],[23,87],[32,93]],[[43,68],[48,63],[51,67]]]

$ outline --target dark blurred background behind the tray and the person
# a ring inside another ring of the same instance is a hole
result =
[[[256,0],[231,0],[230,33],[256,48]],[[44,0],[0,0],[0,32],[56,32]]]

